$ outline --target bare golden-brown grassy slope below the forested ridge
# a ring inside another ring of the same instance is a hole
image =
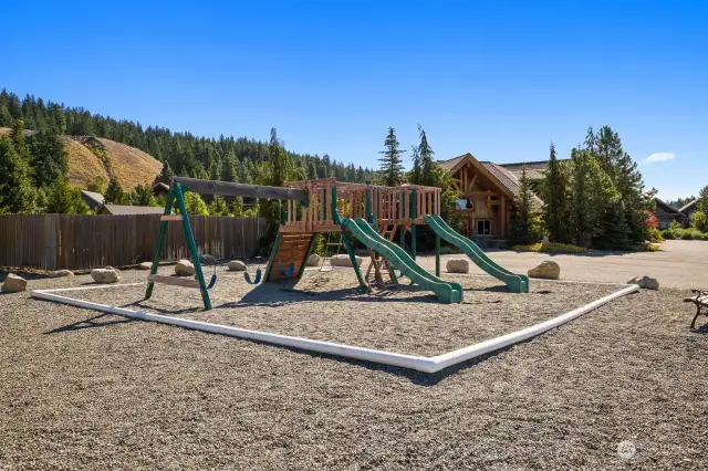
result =
[[[10,133],[0,128],[0,136]],[[35,132],[27,130],[32,135]],[[85,188],[97,177],[106,185],[111,178],[118,180],[124,190],[138,185],[150,185],[163,168],[163,164],[135,147],[111,139],[91,136],[63,136],[69,154],[69,181]]]

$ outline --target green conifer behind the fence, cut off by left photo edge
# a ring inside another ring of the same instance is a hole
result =
[[[32,212],[34,191],[28,163],[15,151],[12,142],[0,138],[0,213]]]

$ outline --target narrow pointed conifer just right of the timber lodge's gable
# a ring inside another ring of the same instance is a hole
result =
[[[551,144],[549,165],[543,172],[541,199],[544,202],[543,216],[549,236],[554,242],[568,242],[569,206],[568,178],[555,154],[555,146]]]

